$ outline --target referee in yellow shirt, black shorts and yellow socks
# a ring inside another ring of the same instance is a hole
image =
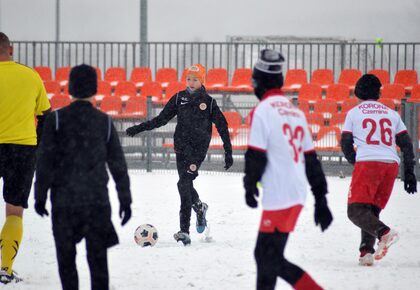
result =
[[[28,208],[35,171],[37,131],[50,103],[39,75],[13,61],[13,49],[0,32],[0,178],[6,220],[0,234],[0,283],[19,282],[13,262],[23,235],[23,210]],[[35,116],[38,119],[36,129]]]

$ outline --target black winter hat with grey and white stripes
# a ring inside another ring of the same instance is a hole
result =
[[[254,86],[265,90],[281,88],[283,86],[283,63],[284,57],[281,53],[263,49],[252,72]]]

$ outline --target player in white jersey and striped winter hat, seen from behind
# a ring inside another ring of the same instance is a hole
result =
[[[245,154],[246,203],[257,207],[257,182],[264,188],[263,213],[255,247],[257,289],[274,289],[277,277],[294,289],[322,289],[304,270],[284,257],[305,203],[307,180],[315,196],[315,223],[324,231],[332,222],[327,206],[327,182],[315,153],[305,115],[281,91],[283,56],[261,51],[253,71],[253,86],[261,100],[252,111]],[[306,172],[306,173],[305,173]]]

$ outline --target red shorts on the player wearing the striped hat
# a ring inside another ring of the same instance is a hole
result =
[[[282,233],[294,230],[302,205],[295,205],[280,210],[264,210],[261,216],[260,232],[274,233],[277,229]]]

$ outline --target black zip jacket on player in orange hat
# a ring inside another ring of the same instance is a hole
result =
[[[212,123],[216,125],[225,152],[232,152],[226,119],[216,100],[200,89],[190,93],[188,90],[174,95],[158,116],[139,125],[141,131],[153,130],[167,124],[177,116],[174,134],[174,147],[177,153],[202,157],[207,153]]]

